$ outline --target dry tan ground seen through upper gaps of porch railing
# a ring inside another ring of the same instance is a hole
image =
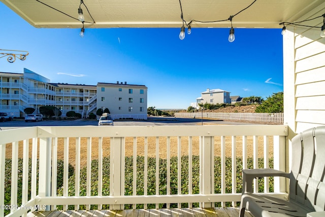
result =
[[[192,138],[192,154],[198,156],[199,155],[199,144],[200,144],[199,137]],[[156,138],[155,137],[148,137],[148,157],[155,157],[156,154]],[[160,137],[159,138],[159,158],[166,159],[167,158],[167,138]],[[258,139],[258,157],[263,157],[264,153],[264,137],[259,136]],[[31,142],[29,140],[29,157],[31,157]],[[57,158],[63,160],[63,138],[58,138],[58,145],[57,145]],[[170,137],[170,153],[171,157],[177,156],[177,137]],[[99,154],[99,138],[91,138],[91,159],[98,159]],[[139,137],[136,140],[137,145],[137,155],[144,156],[145,150],[145,138]],[[236,137],[236,156],[242,157],[243,151],[243,138]],[[134,146],[134,139],[126,138],[125,139],[125,156],[133,156],[133,146]],[[7,144],[6,147],[6,158],[11,158],[11,144]],[[18,156],[22,158],[23,154],[23,145],[22,143],[19,145],[18,149]],[[110,138],[103,138],[103,157],[110,156]],[[39,147],[38,147],[39,150]],[[221,156],[221,137],[214,138],[214,154],[215,156]],[[247,154],[248,157],[252,157],[253,155],[253,138],[252,136],[247,137]],[[188,137],[181,137],[181,155],[185,156],[188,155]],[[75,156],[76,156],[76,139],[70,138],[69,139],[69,163],[75,166]],[[225,137],[225,156],[231,157],[232,156],[232,137]],[[269,156],[273,156],[273,137],[269,137]],[[81,138],[81,146],[80,146],[80,161],[81,167],[87,164],[87,139]]]

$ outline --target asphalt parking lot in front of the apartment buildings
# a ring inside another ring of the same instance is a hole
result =
[[[222,120],[203,119],[203,125],[243,125],[252,123],[230,122]],[[116,126],[164,126],[164,125],[202,125],[201,119],[174,118],[174,117],[148,117],[148,120],[114,120]],[[25,122],[23,119],[0,122],[0,129],[32,127],[32,126],[98,126],[98,120],[76,119],[76,120],[44,120],[38,122]]]

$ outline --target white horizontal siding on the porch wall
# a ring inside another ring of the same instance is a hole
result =
[[[305,17],[319,16],[321,8],[325,9],[325,4]],[[315,19],[308,25],[322,23]],[[288,36],[283,36],[284,122],[299,133],[325,125],[325,38],[320,37],[320,28],[296,26],[289,30]]]

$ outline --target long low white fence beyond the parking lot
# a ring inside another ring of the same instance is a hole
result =
[[[175,117],[283,123],[283,113],[184,112],[175,113]]]

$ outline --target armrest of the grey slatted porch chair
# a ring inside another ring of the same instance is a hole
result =
[[[253,192],[253,179],[258,177],[281,176],[289,178],[290,173],[274,169],[243,170],[243,194]]]

